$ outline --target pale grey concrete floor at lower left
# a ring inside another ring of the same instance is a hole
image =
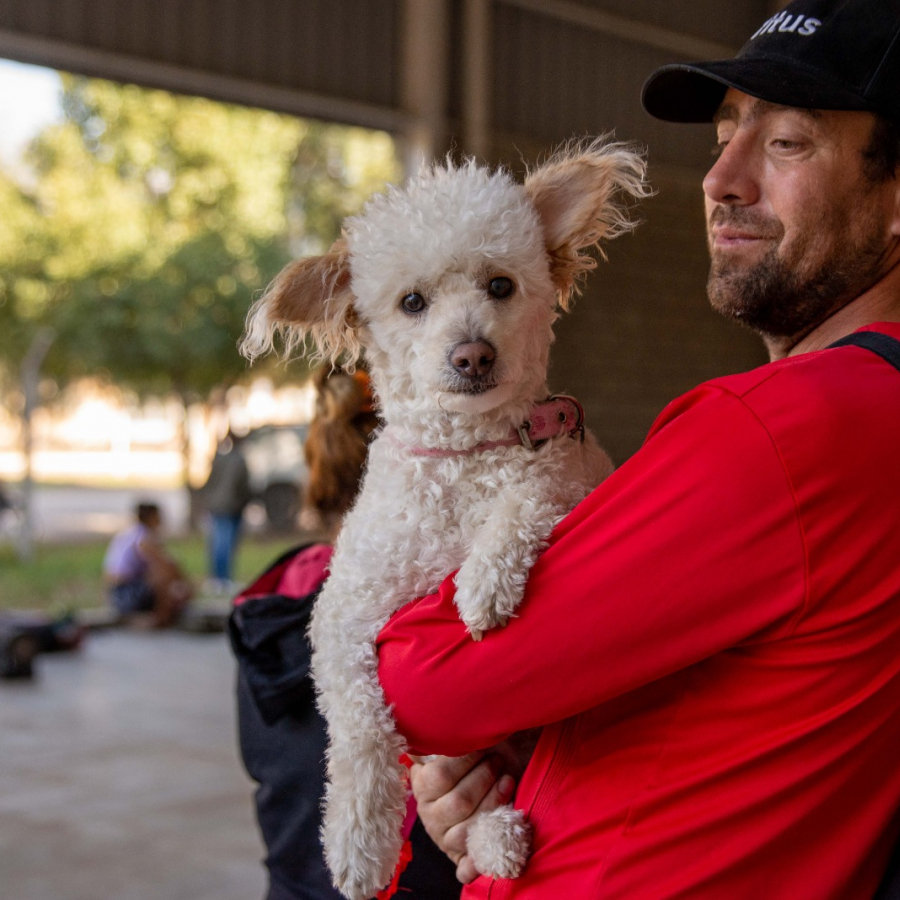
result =
[[[2,900],[259,900],[221,634],[95,632],[0,682]]]

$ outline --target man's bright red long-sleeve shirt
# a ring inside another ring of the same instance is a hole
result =
[[[900,338],[900,325],[873,326]],[[900,373],[838,348],[707,383],[557,528],[520,616],[380,638],[414,752],[547,726],[534,846],[465,898],[869,897],[900,806]]]

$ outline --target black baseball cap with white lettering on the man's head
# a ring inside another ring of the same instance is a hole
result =
[[[658,119],[711,122],[729,87],[784,106],[900,122],[900,0],[794,0],[734,59],[657,69],[641,100]]]

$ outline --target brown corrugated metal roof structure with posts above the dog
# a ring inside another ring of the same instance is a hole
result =
[[[644,76],[730,55],[764,0],[0,0],[0,56],[489,155],[616,126]],[[671,148],[673,161],[690,159]]]

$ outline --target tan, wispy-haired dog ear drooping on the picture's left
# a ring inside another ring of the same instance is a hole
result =
[[[290,263],[247,314],[240,349],[251,362],[274,349],[281,333],[284,354],[310,337],[313,356],[352,368],[362,349],[350,289],[347,242],[340,238],[322,256]]]

